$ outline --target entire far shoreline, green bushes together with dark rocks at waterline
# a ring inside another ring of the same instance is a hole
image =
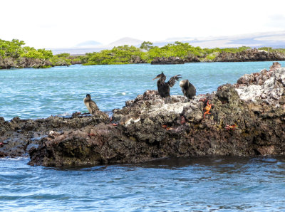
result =
[[[247,62],[285,60],[285,49],[271,47],[250,48],[200,48],[190,43],[168,43],[165,46],[153,46],[144,41],[140,48],[135,46],[117,46],[110,50],[70,55],[53,55],[51,51],[24,46],[24,41],[0,40],[0,69],[10,68],[51,68],[74,64],[83,65],[120,65],[150,63],[152,65],[183,64],[199,62]]]

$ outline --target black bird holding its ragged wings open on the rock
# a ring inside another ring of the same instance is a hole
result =
[[[165,97],[170,97],[170,87],[175,85],[175,81],[176,80],[178,81],[180,78],[181,75],[175,75],[174,77],[170,78],[170,80],[167,83],[165,83],[166,76],[162,72],[161,74],[157,75],[156,78],[154,78],[153,80],[159,79],[157,80],[157,90],[160,96],[162,98],[165,98]]]

